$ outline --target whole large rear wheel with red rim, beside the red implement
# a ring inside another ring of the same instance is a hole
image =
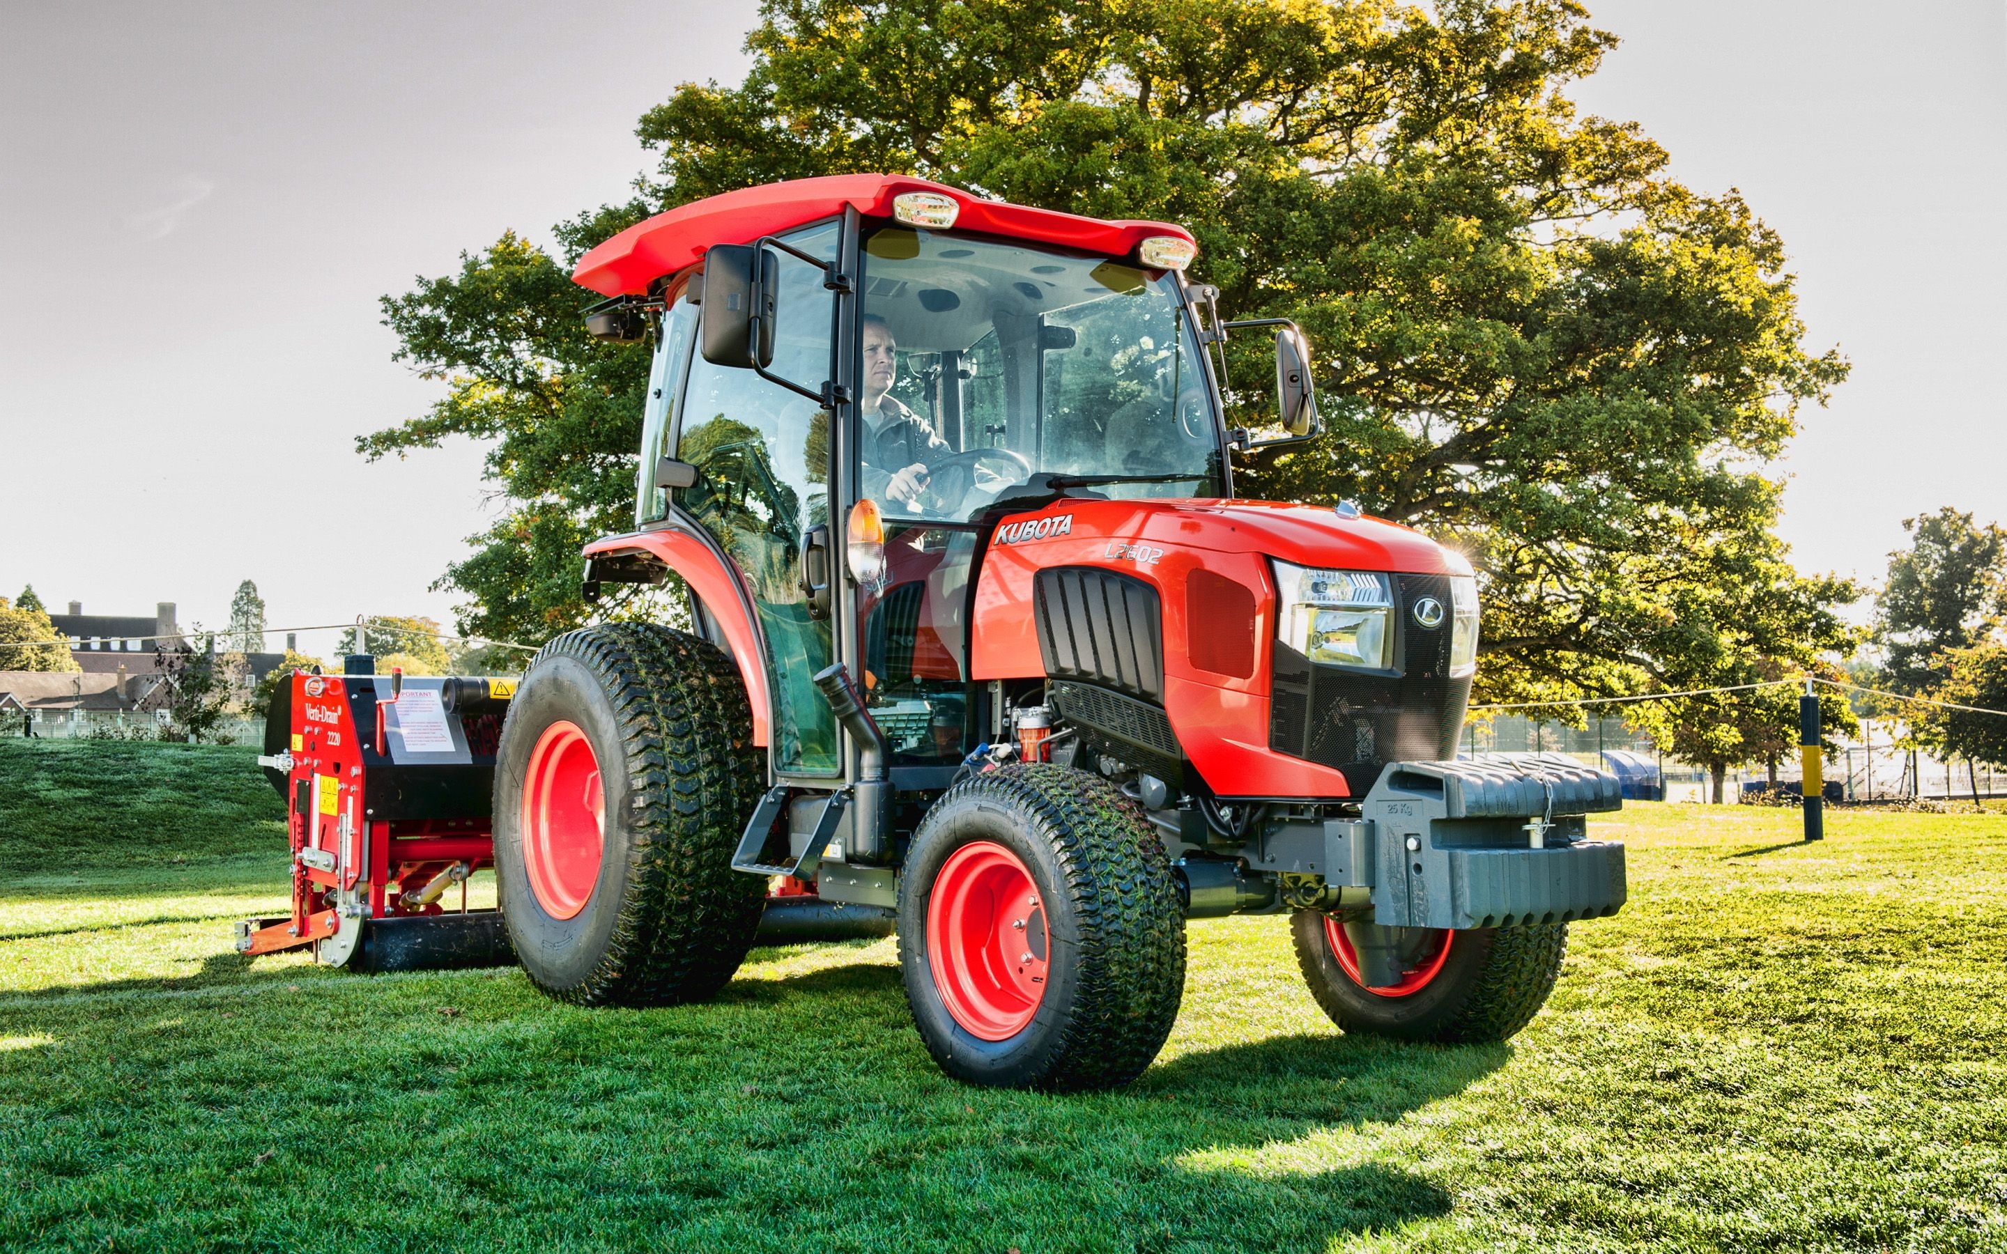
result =
[[[650,624],[558,636],[496,754],[496,889],[530,981],[578,1005],[714,995],[765,881],[731,869],[763,762],[731,660]]]

